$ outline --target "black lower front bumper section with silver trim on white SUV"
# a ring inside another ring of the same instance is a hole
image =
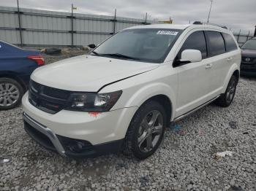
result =
[[[59,136],[50,130],[50,128],[33,120],[25,112],[23,112],[23,120],[24,129],[32,139],[37,141],[42,147],[50,149],[53,152],[58,152],[63,157],[97,157],[99,155],[116,153],[120,151],[123,143],[123,139],[121,139],[104,144],[92,145],[89,141]],[[74,143],[82,143],[83,149],[75,152],[71,147]]]

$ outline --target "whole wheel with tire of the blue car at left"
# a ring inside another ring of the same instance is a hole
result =
[[[15,79],[0,78],[0,110],[20,105],[23,94],[23,87]]]

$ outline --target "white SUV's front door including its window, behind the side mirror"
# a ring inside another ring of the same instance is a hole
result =
[[[176,61],[181,58],[181,52],[187,49],[200,50],[203,60],[174,68],[178,73],[176,117],[208,101],[206,95],[209,92],[210,70],[207,68],[211,63],[207,58],[206,38],[203,31],[189,32],[176,56]]]

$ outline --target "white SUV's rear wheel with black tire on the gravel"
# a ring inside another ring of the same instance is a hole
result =
[[[217,101],[215,102],[218,106],[222,106],[222,107],[230,106],[236,94],[237,83],[238,83],[237,77],[232,76],[230,78],[230,82],[228,82],[225,93],[220,95],[219,98],[217,98]]]

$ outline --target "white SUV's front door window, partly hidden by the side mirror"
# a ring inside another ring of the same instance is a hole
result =
[[[207,57],[206,37],[203,34],[203,31],[196,31],[189,35],[182,45],[181,50],[178,52],[178,59],[181,58],[181,52],[187,49],[200,50],[202,58]]]

